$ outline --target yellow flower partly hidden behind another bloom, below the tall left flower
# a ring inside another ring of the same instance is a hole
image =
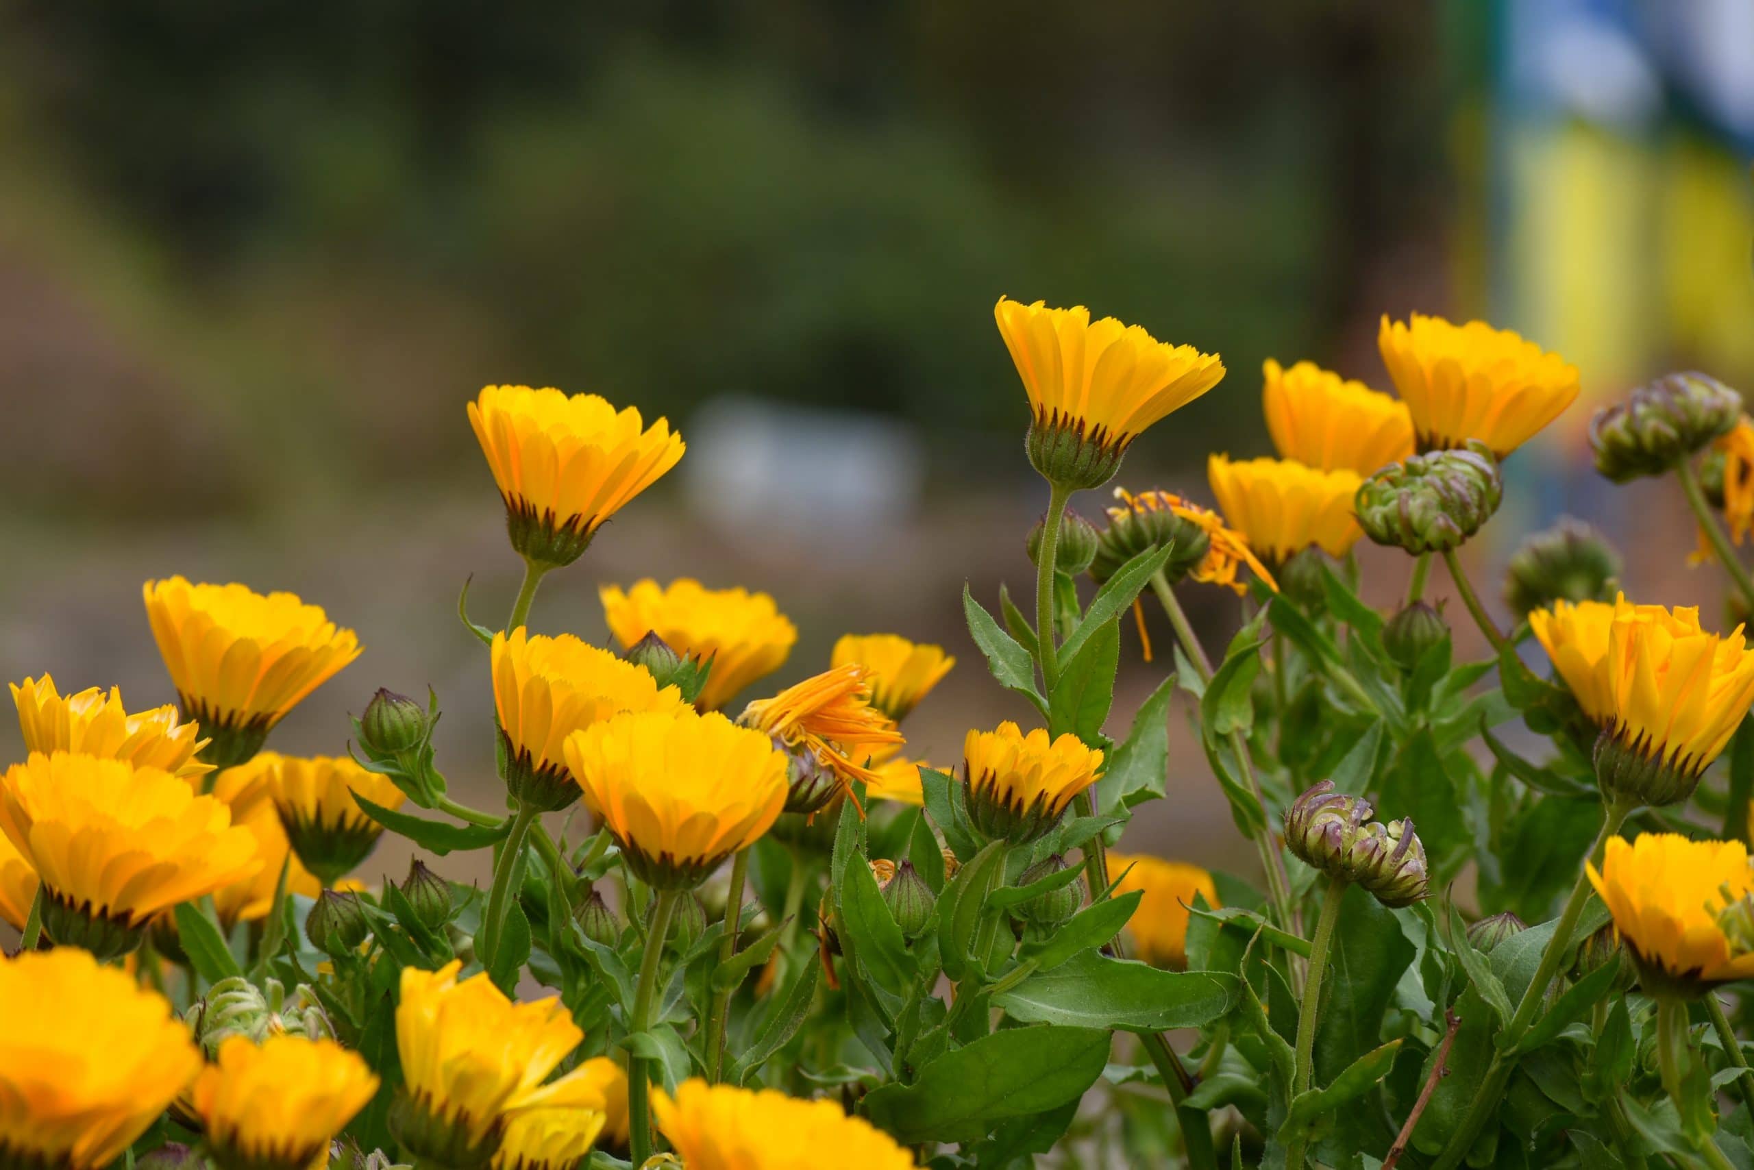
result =
[[[502,777],[512,796],[545,810],[579,798],[561,756],[568,735],[623,710],[674,714],[686,705],[677,688],[660,689],[644,667],[570,633],[531,637],[519,626],[493,635],[491,656]]]

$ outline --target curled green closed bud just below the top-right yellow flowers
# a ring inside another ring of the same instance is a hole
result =
[[[1503,498],[1505,481],[1486,444],[1415,454],[1389,463],[1358,489],[1358,523],[1377,544],[1407,553],[1447,553],[1480,530]]]

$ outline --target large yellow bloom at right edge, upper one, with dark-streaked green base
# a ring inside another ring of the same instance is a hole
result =
[[[1554,670],[1601,728],[1596,775],[1651,805],[1686,800],[1754,702],[1754,649],[1700,610],[1556,602],[1529,614]]]

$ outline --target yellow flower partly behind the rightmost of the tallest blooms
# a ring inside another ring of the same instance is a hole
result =
[[[1407,403],[1342,379],[1314,361],[1289,370],[1266,360],[1261,407],[1286,460],[1324,472],[1370,475],[1414,453]]]

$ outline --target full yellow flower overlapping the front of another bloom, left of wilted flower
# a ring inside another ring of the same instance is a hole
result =
[[[786,805],[786,754],[724,716],[623,714],[567,737],[567,767],[635,877],[698,886]]]

